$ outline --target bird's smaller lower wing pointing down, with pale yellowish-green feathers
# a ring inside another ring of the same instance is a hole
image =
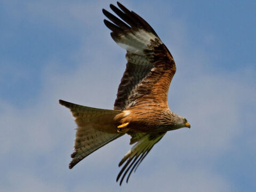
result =
[[[118,166],[124,166],[122,167],[122,170],[119,172],[117,175],[116,181],[120,180],[120,185],[122,185],[122,182],[125,178],[125,175],[129,172],[126,182],[128,182],[130,175],[132,171],[136,171],[142,160],[147,156],[151,148],[159,141],[162,139],[166,132],[164,133],[155,133],[155,134],[150,134],[150,133],[130,133],[131,135],[131,142],[130,144],[132,145],[133,143],[137,142],[131,150],[127,152],[127,154],[124,156],[124,158],[121,160]]]

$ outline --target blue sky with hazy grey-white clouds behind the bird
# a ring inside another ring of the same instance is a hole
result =
[[[113,109],[125,50],[115,1],[0,1],[0,191],[255,191],[255,1],[121,1],[155,29],[177,72],[168,132],[119,187],[125,135],[68,169],[75,123],[59,99]]]

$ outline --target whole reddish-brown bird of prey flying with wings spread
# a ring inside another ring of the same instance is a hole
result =
[[[97,109],[59,100],[71,110],[77,124],[74,153],[69,169],[93,151],[124,134],[134,146],[123,157],[116,181],[128,182],[151,148],[167,131],[189,127],[187,119],[174,114],[167,93],[176,67],[173,57],[154,29],[121,3],[102,10],[111,37],[126,52],[126,69],[118,87],[114,110]]]

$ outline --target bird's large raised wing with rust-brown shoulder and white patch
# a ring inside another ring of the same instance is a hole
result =
[[[117,2],[110,4],[119,18],[105,9],[111,37],[126,53],[126,69],[118,87],[114,109],[143,105],[145,100],[167,107],[167,93],[176,67],[173,57],[154,29],[138,14]]]

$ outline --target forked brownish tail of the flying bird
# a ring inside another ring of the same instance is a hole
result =
[[[77,124],[75,149],[71,154],[73,159],[69,169],[93,151],[123,135],[117,132],[114,122],[114,117],[121,111],[85,107],[63,100],[59,100],[59,103],[71,110]]]

